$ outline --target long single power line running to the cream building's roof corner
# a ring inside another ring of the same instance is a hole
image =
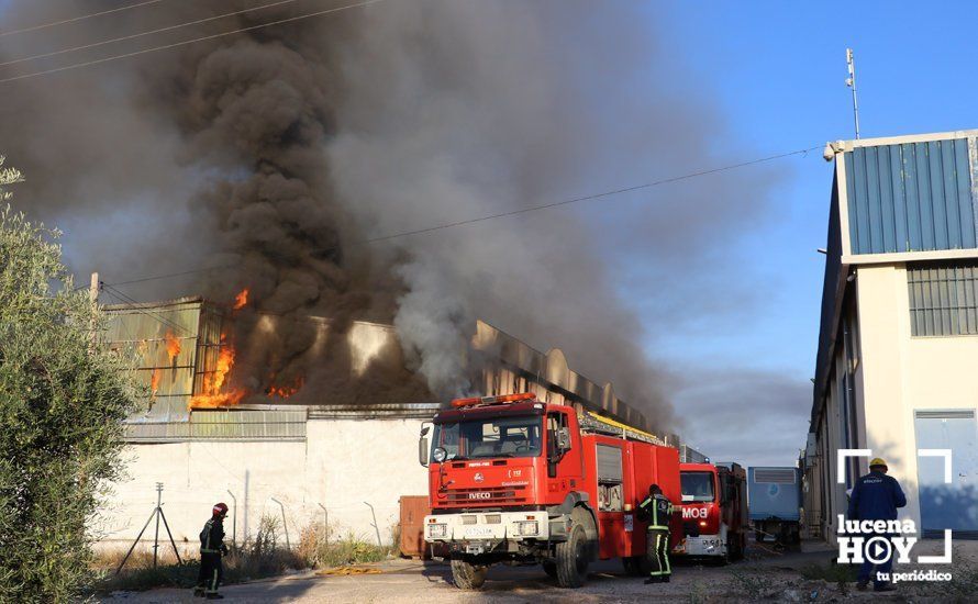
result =
[[[413,231],[402,231],[402,232],[400,232],[400,233],[392,233],[392,234],[389,234],[389,235],[381,235],[381,236],[379,236],[379,237],[373,237],[373,238],[364,239],[364,241],[360,241],[360,242],[353,242],[353,243],[351,243],[351,244],[347,244],[347,246],[348,246],[348,247],[355,247],[355,246],[359,246],[359,245],[367,245],[367,244],[373,244],[373,243],[378,243],[378,242],[386,242],[386,241],[390,241],[390,239],[397,239],[397,238],[400,238],[400,237],[408,237],[408,236],[411,236],[411,235],[422,235],[422,234],[425,234],[425,233],[432,233],[432,232],[435,232],[435,231],[442,231],[442,230],[445,230],[445,228],[453,228],[453,227],[456,227],[456,226],[465,226],[465,225],[468,225],[468,224],[476,224],[476,223],[479,223],[479,222],[491,221],[491,220],[498,220],[498,219],[502,219],[502,217],[507,217],[507,216],[514,216],[514,215],[518,215],[518,214],[526,214],[526,213],[530,213],[530,212],[537,212],[537,211],[540,211],[540,210],[547,210],[547,209],[551,209],[551,208],[559,208],[559,206],[563,206],[563,205],[570,205],[570,204],[573,204],[573,203],[580,203],[580,202],[584,202],[584,201],[592,201],[592,200],[596,200],[596,199],[608,198],[608,197],[618,195],[618,194],[621,194],[621,193],[629,193],[629,192],[632,192],[632,191],[640,191],[640,190],[643,190],[643,189],[651,189],[651,188],[653,188],[653,187],[659,187],[659,186],[662,186],[662,184],[668,184],[668,183],[670,183],[670,182],[679,182],[679,181],[682,181],[682,180],[689,180],[689,179],[699,178],[699,177],[703,177],[703,176],[709,176],[709,175],[714,175],[714,174],[719,174],[719,172],[724,172],[724,171],[735,170],[735,169],[744,168],[744,167],[747,167],[747,166],[755,166],[755,165],[757,165],[757,164],[764,164],[764,163],[766,163],[766,161],[774,161],[775,159],[782,159],[782,158],[785,158],[785,157],[791,157],[791,156],[794,156],[794,155],[805,155],[805,154],[808,154],[809,152],[813,152],[813,150],[816,150],[816,149],[820,149],[820,148],[821,148],[821,145],[816,145],[816,146],[814,146],[814,147],[808,147],[808,148],[803,148],[803,149],[796,149],[796,150],[787,152],[787,153],[779,153],[779,154],[777,154],[777,155],[768,155],[768,156],[766,156],[766,157],[759,157],[759,158],[757,158],[757,159],[751,159],[751,160],[748,160],[748,161],[741,161],[741,163],[738,163],[738,164],[729,164],[729,165],[726,165],[726,166],[721,166],[721,167],[719,167],[719,168],[711,168],[711,169],[708,169],[708,170],[699,170],[699,171],[696,171],[696,172],[689,172],[689,174],[681,175],[681,176],[674,176],[674,177],[670,177],[670,178],[664,178],[664,179],[660,179],[660,180],[654,180],[654,181],[651,181],[651,182],[646,182],[646,183],[644,183],[644,184],[635,184],[635,186],[632,186],[632,187],[624,187],[624,188],[621,188],[621,189],[613,189],[613,190],[611,190],[611,191],[604,191],[604,192],[601,192],[601,193],[593,193],[593,194],[585,195],[585,197],[578,197],[578,198],[573,198],[573,199],[565,199],[565,200],[562,200],[562,201],[554,201],[554,202],[551,202],[551,203],[542,203],[542,204],[538,204],[538,205],[531,205],[531,206],[527,206],[527,208],[521,208],[521,209],[519,209],[519,210],[510,210],[510,211],[508,211],[508,212],[499,212],[499,213],[497,213],[497,214],[487,214],[487,215],[484,215],[484,216],[477,216],[477,217],[474,217],[474,219],[467,219],[467,220],[463,220],[463,221],[456,221],[456,222],[449,222],[449,223],[438,224],[438,225],[429,226],[429,227],[425,227],[425,228],[416,228],[416,230],[413,230]],[[237,265],[224,265],[224,266],[219,266],[219,267],[198,268],[198,269],[185,270],[185,271],[180,271],[180,272],[170,272],[170,273],[167,273],[167,275],[157,275],[157,276],[154,276],[154,277],[144,277],[144,278],[141,278],[141,279],[131,279],[131,280],[129,280],[129,281],[119,281],[118,283],[113,283],[113,284],[115,284],[115,286],[125,286],[125,284],[130,284],[130,283],[142,283],[142,282],[144,282],[144,281],[155,281],[155,280],[157,280],[157,279],[169,279],[169,278],[173,278],[173,277],[181,277],[181,276],[185,276],[185,275],[193,275],[193,273],[197,273],[197,272],[205,272],[205,271],[209,271],[209,270],[231,269],[231,268],[235,268],[236,266],[237,266]],[[107,287],[108,287],[108,286],[107,286]]]

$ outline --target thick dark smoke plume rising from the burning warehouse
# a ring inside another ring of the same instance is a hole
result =
[[[0,56],[259,3],[163,2],[0,38]],[[15,1],[2,18],[33,24],[115,5]],[[2,74],[330,5],[298,1]],[[732,210],[721,194],[738,179],[364,243],[701,161],[715,112],[664,83],[674,56],[640,25],[651,20],[627,2],[390,0],[2,85],[0,150],[31,177],[20,202],[76,242],[67,251],[79,271],[114,282],[225,267],[126,288],[142,299],[231,302],[249,288],[249,307],[278,325],[263,336],[258,315],[242,312],[237,379],[249,388],[304,376],[316,399],[366,400],[378,383],[390,399],[451,396],[470,385],[464,350],[484,318],[563,348],[571,368],[613,381],[671,427],[667,371],[643,349],[644,304],[625,276],[674,294],[690,287],[684,271],[707,262],[699,242],[751,220],[754,205]],[[636,267],[625,253],[648,260]],[[670,302],[664,294],[651,328],[669,326]],[[311,355],[309,315],[329,317],[335,334],[356,320],[393,324],[399,360],[351,393],[331,373],[347,362],[340,347],[333,369]]]

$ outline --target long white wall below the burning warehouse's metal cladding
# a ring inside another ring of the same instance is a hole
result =
[[[334,535],[390,543],[401,495],[425,495],[425,469],[418,463],[420,420],[311,420],[305,441],[192,441],[141,444],[126,449],[126,480],[113,485],[102,517],[93,525],[103,546],[130,544],[156,505],[155,483],[164,483],[164,512],[178,545],[198,547],[211,506],[237,497],[237,540],[254,536],[263,515],[281,517],[289,540],[302,527],[322,522],[322,504]],[[229,539],[232,516],[225,521]],[[153,541],[151,525],[143,540]],[[163,532],[163,527],[160,527]],[[285,536],[282,535],[282,541]],[[284,543],[282,543],[284,545]]]

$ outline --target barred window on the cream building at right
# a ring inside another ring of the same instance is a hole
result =
[[[914,336],[978,335],[978,262],[909,265]]]

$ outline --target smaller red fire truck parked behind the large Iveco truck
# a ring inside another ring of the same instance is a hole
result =
[[[747,547],[747,473],[737,463],[680,463],[682,539],[673,553],[740,560]]]

